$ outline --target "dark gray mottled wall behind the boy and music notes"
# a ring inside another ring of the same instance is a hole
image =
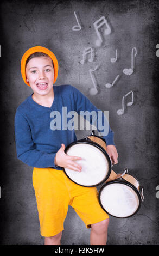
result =
[[[119,158],[116,172],[128,167],[144,186],[145,200],[139,212],[125,219],[110,217],[108,245],[157,245],[158,205],[156,186],[158,179],[158,69],[159,43],[157,1],[5,1],[1,3],[1,244],[42,245],[36,200],[32,186],[33,168],[17,160],[14,141],[14,115],[16,108],[31,89],[21,77],[20,61],[28,48],[41,45],[53,51],[59,61],[59,76],[55,84],[72,84],[84,93],[98,108],[109,111],[111,129]],[[76,11],[81,25],[77,25]],[[93,22],[105,16],[111,33],[104,35],[103,44],[96,46],[97,34]],[[94,48],[93,62],[81,64],[85,47]],[[131,50],[137,55],[133,74]],[[118,49],[118,60],[111,63]],[[93,83],[89,69],[94,71],[98,93],[90,94]],[[112,83],[111,88],[106,83]],[[133,91],[134,102],[126,107]],[[130,95],[129,95],[130,96]],[[77,132],[78,138],[88,135]],[[98,187],[99,189],[100,187]],[[62,234],[62,245],[88,245],[90,229],[69,206]]]

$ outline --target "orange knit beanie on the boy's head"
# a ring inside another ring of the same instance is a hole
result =
[[[24,55],[21,59],[21,74],[22,74],[22,78],[23,78],[24,82],[28,86],[30,86],[29,83],[27,82],[27,78],[26,78],[26,61],[27,61],[28,57],[31,54],[35,53],[35,52],[46,53],[53,60],[53,63],[54,63],[54,83],[55,83],[55,81],[58,77],[58,69],[59,69],[58,60],[56,59],[56,56],[54,55],[53,52],[51,52],[50,50],[48,50],[46,47],[43,47],[43,46],[32,47],[24,53]]]

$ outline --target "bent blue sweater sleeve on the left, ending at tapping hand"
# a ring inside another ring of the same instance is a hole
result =
[[[17,158],[32,167],[59,167],[54,164],[55,155],[36,149],[26,118],[20,112],[15,115],[15,141]]]

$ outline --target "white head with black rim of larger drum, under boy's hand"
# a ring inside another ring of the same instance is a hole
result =
[[[75,183],[93,187],[103,183],[109,177],[111,172],[109,156],[92,143],[74,144],[68,148],[66,154],[82,158],[75,161],[82,167],[81,172],[65,168],[66,175]]]

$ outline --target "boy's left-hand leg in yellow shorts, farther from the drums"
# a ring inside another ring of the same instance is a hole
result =
[[[33,186],[39,214],[41,235],[45,244],[60,245],[63,223],[70,201],[63,171],[34,168]]]

